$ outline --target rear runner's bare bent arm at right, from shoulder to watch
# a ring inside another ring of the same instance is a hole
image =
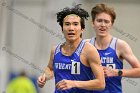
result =
[[[118,40],[117,47],[120,56],[132,66],[130,69],[123,69],[122,76],[132,78],[140,77],[140,62],[133,54],[130,46],[126,42]]]

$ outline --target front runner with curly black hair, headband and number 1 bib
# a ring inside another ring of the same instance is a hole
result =
[[[44,75],[38,78],[39,87],[55,77],[55,93],[93,93],[105,87],[103,67],[96,48],[82,40],[84,19],[88,13],[76,5],[57,13],[66,42],[52,48]],[[94,77],[95,76],[95,77]]]

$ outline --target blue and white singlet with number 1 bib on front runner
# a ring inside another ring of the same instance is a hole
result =
[[[91,68],[83,65],[80,60],[80,53],[85,45],[85,41],[81,40],[77,49],[71,56],[62,54],[62,45],[63,43],[56,47],[54,54],[53,70],[55,84],[63,79],[77,81],[93,80]],[[58,90],[55,88],[55,93],[93,93],[93,91],[79,88],[72,88],[68,90]]]

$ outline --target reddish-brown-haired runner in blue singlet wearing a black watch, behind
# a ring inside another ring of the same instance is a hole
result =
[[[100,54],[106,77],[105,89],[94,93],[122,93],[121,78],[140,77],[138,74],[140,73],[140,62],[125,41],[110,34],[116,18],[113,8],[106,4],[97,4],[92,8],[91,16],[96,36],[89,42],[96,47]],[[126,60],[132,68],[123,69],[123,60]]]

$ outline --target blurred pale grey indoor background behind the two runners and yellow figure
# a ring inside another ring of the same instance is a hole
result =
[[[90,14],[91,8],[101,2],[117,13],[112,34],[125,40],[140,59],[140,0],[0,0],[0,93],[5,93],[11,80],[23,71],[37,93],[53,93],[54,79],[42,89],[36,79],[48,64],[51,47],[64,41],[56,13],[80,3]],[[83,38],[93,36],[90,17]],[[130,66],[124,62],[124,67]],[[123,78],[122,83],[123,93],[140,93],[139,78]]]

